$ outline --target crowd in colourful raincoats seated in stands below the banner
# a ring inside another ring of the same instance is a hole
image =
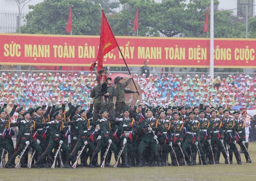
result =
[[[255,105],[256,77],[240,74],[229,75],[220,79],[220,76],[212,79],[189,74],[181,77],[178,74],[169,73],[168,76],[150,74],[149,78],[143,74],[139,77],[134,74],[133,79],[140,85],[142,101],[149,105],[163,104],[175,105],[178,101],[186,106],[195,107],[200,103],[224,107],[237,105],[250,108]],[[71,99],[79,101],[83,109],[90,107],[90,88],[97,85],[96,74],[80,72],[79,74],[6,74],[2,72],[0,77],[0,107],[4,102],[8,103],[10,112],[15,100],[18,107],[36,107],[43,103],[55,102],[57,106],[68,103]],[[66,106],[68,107],[68,106]]]

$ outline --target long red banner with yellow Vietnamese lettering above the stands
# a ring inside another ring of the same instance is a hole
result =
[[[88,66],[97,57],[99,36],[0,34],[0,64]],[[128,66],[206,67],[209,38],[116,36]],[[256,39],[214,39],[214,67],[256,68]],[[125,66],[118,48],[104,56],[104,66]]]

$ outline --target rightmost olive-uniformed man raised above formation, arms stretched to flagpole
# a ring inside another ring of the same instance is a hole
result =
[[[132,75],[130,75],[130,78],[125,82],[123,83],[123,78],[122,77],[119,77],[117,76],[114,80],[114,83],[117,84],[116,85],[116,91],[117,91],[117,97],[116,97],[116,117],[119,118],[119,116],[121,115],[123,109],[130,109],[130,106],[128,106],[126,103],[125,103],[125,94],[127,93],[135,93],[138,91],[131,91],[131,90],[127,90],[125,89],[126,86],[128,86],[128,84],[131,82],[131,78],[132,78]],[[131,114],[131,112],[130,112]],[[130,115],[132,116],[132,115]]]

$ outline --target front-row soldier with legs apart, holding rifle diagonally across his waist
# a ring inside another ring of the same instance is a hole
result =
[[[155,134],[157,133],[158,121],[157,119],[153,118],[154,111],[152,109],[147,109],[146,114],[147,114],[147,119],[144,119],[141,124],[143,134],[140,141],[140,145],[138,147],[139,164],[137,166],[142,167],[144,165],[142,162],[142,155],[144,153],[144,150],[147,147],[149,147],[150,152],[154,155],[154,158],[156,159],[156,160],[154,159],[154,161],[157,161],[157,165],[161,167],[162,163],[161,163],[160,155],[157,150],[157,143],[156,143],[157,136],[156,135],[154,136],[153,134],[153,131]],[[154,162],[150,163],[150,166],[154,166],[154,165],[155,165]]]

